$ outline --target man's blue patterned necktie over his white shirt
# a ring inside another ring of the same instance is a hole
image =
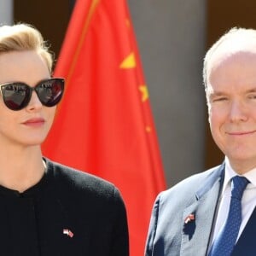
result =
[[[213,242],[209,256],[230,256],[232,253],[241,224],[241,197],[247,183],[246,177],[232,178],[229,215],[224,229]]]

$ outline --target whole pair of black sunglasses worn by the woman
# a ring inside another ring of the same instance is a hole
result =
[[[26,108],[35,90],[39,101],[46,107],[53,107],[61,101],[65,80],[61,78],[44,79],[31,87],[22,82],[0,84],[3,102],[11,110]]]

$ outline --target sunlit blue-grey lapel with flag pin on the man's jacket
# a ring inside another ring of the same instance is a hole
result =
[[[207,177],[206,183],[195,194],[195,201],[183,211],[181,256],[191,256],[195,253],[198,256],[207,254],[212,222],[223,179],[224,165]],[[188,218],[188,216],[190,217]]]

